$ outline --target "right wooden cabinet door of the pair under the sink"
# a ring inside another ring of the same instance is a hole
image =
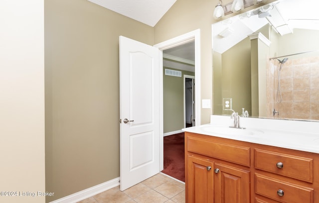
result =
[[[250,172],[215,163],[214,166],[215,203],[249,203]]]

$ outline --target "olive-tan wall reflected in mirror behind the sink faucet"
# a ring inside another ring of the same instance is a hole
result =
[[[216,58],[215,58],[216,57]],[[251,113],[250,39],[245,38],[223,54],[214,53],[214,114],[231,114],[222,110],[223,98],[232,98],[232,108]]]

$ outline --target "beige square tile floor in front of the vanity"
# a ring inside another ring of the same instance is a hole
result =
[[[79,203],[185,203],[185,185],[159,173],[123,192],[118,186]]]

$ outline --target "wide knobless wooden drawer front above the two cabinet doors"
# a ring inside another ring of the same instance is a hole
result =
[[[250,166],[250,148],[187,137],[187,151]]]

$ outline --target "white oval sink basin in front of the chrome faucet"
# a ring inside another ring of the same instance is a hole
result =
[[[223,135],[255,135],[255,134],[264,133],[261,130],[232,128],[232,127],[226,127],[226,126],[205,126],[205,127],[202,127],[202,130],[205,132],[223,134]]]

